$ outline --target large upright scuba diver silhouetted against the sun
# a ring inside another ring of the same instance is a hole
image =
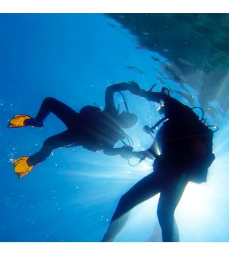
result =
[[[139,157],[140,162],[145,157],[154,159],[153,172],[121,196],[101,242],[114,241],[125,226],[129,211],[159,193],[157,218],[163,242],[179,242],[179,231],[174,218],[177,204],[189,181],[206,182],[208,167],[215,159],[212,153],[214,131],[203,123],[205,119],[202,117],[199,120],[191,108],[173,99],[167,88],[163,88],[161,92],[152,92],[152,88],[145,91],[135,83],[130,92],[160,104],[159,113],[164,114],[164,118],[154,127],[145,126],[145,132],[152,134],[153,129],[164,123],[149,149],[140,152],[123,151],[121,156],[126,159]]]

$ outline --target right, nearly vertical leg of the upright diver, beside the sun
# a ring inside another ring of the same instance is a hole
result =
[[[187,178],[181,176],[180,178],[172,179],[171,184],[168,184],[161,191],[157,217],[161,226],[163,242],[179,242],[179,231],[174,212],[187,183]]]

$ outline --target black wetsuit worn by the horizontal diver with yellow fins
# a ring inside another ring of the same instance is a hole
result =
[[[119,112],[115,107],[114,93],[120,90],[127,90],[129,84],[110,85],[105,92],[105,109],[97,115],[88,116],[85,113],[78,113],[60,101],[48,97],[35,117],[37,123],[42,123],[49,113],[54,113],[65,125],[66,131],[49,137],[44,141],[39,152],[30,156],[27,163],[34,166],[43,162],[52,151],[60,147],[82,146],[90,151],[103,149],[104,153],[110,153],[117,141],[125,138],[123,129],[117,123]]]

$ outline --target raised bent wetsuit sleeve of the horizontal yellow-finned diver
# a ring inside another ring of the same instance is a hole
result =
[[[110,85],[108,86],[108,88],[106,88],[105,109],[104,109],[105,112],[117,114],[117,109],[115,107],[114,94],[116,92],[119,92],[120,90],[128,90],[129,86],[130,85],[128,84],[128,82],[121,82],[120,84]]]

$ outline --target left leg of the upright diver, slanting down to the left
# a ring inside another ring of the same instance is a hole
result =
[[[160,178],[152,173],[141,179],[127,193],[121,196],[115,213],[110,220],[108,230],[101,242],[112,242],[125,226],[129,211],[137,204],[159,193],[160,184]]]

